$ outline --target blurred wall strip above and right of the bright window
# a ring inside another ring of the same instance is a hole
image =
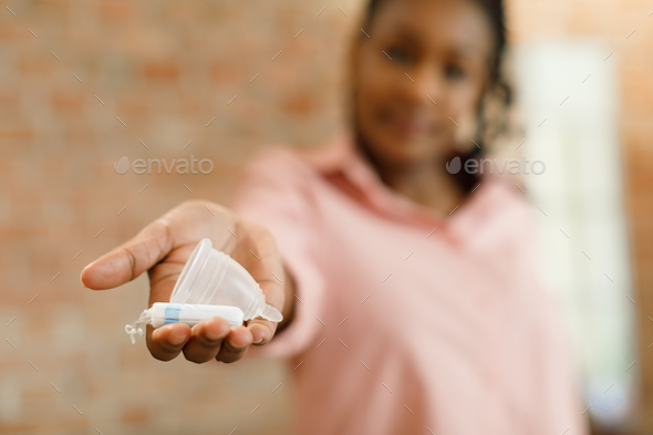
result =
[[[510,1],[514,41],[592,39],[618,62],[620,138],[636,298],[640,406],[624,431],[653,433],[653,4],[646,1]],[[634,31],[634,32],[633,32]]]

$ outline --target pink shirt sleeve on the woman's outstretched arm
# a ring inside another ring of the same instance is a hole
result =
[[[286,270],[296,282],[296,308],[291,323],[263,346],[248,355],[294,358],[319,333],[324,298],[318,242],[320,219],[310,189],[315,174],[293,152],[267,148],[245,167],[236,182],[230,208],[265,226],[274,237]]]

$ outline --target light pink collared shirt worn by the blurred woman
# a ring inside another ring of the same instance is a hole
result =
[[[296,277],[298,434],[588,434],[558,302],[537,279],[530,206],[484,179],[440,216],[386,187],[350,133],[260,153],[232,208]]]

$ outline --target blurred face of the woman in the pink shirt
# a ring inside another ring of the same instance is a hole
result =
[[[489,73],[495,41],[485,11],[473,0],[385,0],[367,34],[352,51],[367,151],[393,166],[447,158]]]

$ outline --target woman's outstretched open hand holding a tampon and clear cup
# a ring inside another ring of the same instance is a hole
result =
[[[156,219],[129,241],[105,253],[82,270],[84,287],[112,289],[144,271],[149,276],[149,307],[169,302],[177,278],[197,244],[210,238],[221,250],[247,269],[260,284],[266,302],[284,313],[287,276],[274,239],[252,221],[228,208],[205,200],[182,203]],[[286,321],[286,319],[284,319]],[[157,360],[169,361],[180,352],[188,361],[240,360],[250,344],[268,343],[277,323],[263,319],[230,327],[222,318],[205,319],[188,327],[172,323],[156,330],[147,325],[147,348]]]

